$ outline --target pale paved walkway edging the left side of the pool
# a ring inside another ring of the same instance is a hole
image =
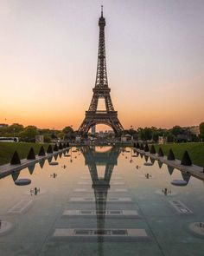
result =
[[[68,148],[63,148],[63,149],[60,149],[58,151],[54,151],[54,153],[52,154],[46,154],[44,156],[38,156],[38,155],[35,155],[35,160],[27,160],[27,159],[22,159],[21,160],[21,164],[16,164],[16,165],[11,165],[10,163],[8,164],[5,164],[5,165],[2,165],[0,166],[0,178],[3,178],[5,176],[8,176],[14,172],[18,172],[26,167],[29,167],[29,166],[32,166],[34,165],[35,163],[41,161],[41,160],[46,160],[48,159],[49,157],[52,157],[56,154],[59,154],[59,153],[63,153],[63,152],[66,152]]]

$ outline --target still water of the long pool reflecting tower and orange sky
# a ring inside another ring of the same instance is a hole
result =
[[[70,148],[54,161],[0,180],[1,256],[204,255],[203,181],[131,148]]]

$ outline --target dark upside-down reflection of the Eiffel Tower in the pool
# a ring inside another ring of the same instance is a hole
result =
[[[82,148],[82,154],[85,157],[85,164],[89,168],[89,172],[92,178],[92,189],[95,195],[95,206],[97,216],[97,232],[99,255],[103,255],[103,234],[105,232],[105,213],[106,213],[106,200],[108,190],[111,187],[110,181],[112,178],[112,171],[118,164],[118,156],[120,154],[120,148],[112,147],[105,152],[99,152],[96,147],[84,147]],[[97,167],[104,166],[104,177],[99,177]]]

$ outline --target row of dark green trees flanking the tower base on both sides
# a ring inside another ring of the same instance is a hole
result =
[[[159,136],[167,138],[167,142],[182,142],[182,141],[204,141],[204,122],[199,126],[200,135],[194,135],[190,128],[182,128],[174,126],[173,128],[130,128],[125,129],[123,134],[132,135],[134,139],[141,141],[158,141]],[[67,126],[62,130],[41,129],[35,126],[24,127],[22,124],[14,123],[7,127],[0,128],[0,137],[18,137],[20,141],[35,142],[35,135],[43,135],[45,142],[50,142],[54,139],[72,140],[75,138],[76,131],[73,131],[71,126]]]

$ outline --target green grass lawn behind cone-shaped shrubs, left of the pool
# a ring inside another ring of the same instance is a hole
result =
[[[19,154],[20,159],[26,158],[29,154],[29,149],[34,148],[35,154],[38,154],[41,145],[45,150],[48,148],[48,143],[27,143],[27,142],[0,142],[0,165],[9,163],[14,151]]]

